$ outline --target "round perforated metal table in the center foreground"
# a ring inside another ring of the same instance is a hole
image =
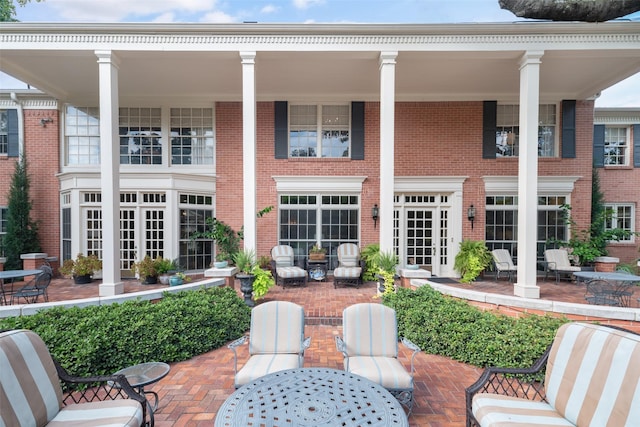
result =
[[[222,404],[217,427],[408,426],[400,403],[366,378],[330,368],[274,372],[245,384]]]

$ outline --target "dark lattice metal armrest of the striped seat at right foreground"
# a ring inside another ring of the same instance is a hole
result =
[[[551,345],[530,368],[489,367],[478,380],[465,389],[467,426],[478,425],[473,417],[473,396],[477,393],[494,393],[527,400],[547,401],[543,377]]]

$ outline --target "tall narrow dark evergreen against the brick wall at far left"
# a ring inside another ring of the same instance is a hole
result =
[[[16,162],[9,188],[7,204],[7,233],[4,236],[6,270],[22,269],[20,255],[40,252],[38,224],[31,220],[31,199],[29,198],[29,174],[24,156]]]

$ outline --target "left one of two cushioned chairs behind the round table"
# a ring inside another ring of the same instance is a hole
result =
[[[301,368],[311,338],[304,338],[304,310],[288,301],[269,301],[251,309],[249,360],[238,370],[236,348],[243,336],[228,347],[233,350],[235,387],[272,372]]]

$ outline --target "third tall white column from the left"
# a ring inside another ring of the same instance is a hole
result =
[[[396,57],[380,53],[380,251],[393,250],[394,133],[396,104]]]

